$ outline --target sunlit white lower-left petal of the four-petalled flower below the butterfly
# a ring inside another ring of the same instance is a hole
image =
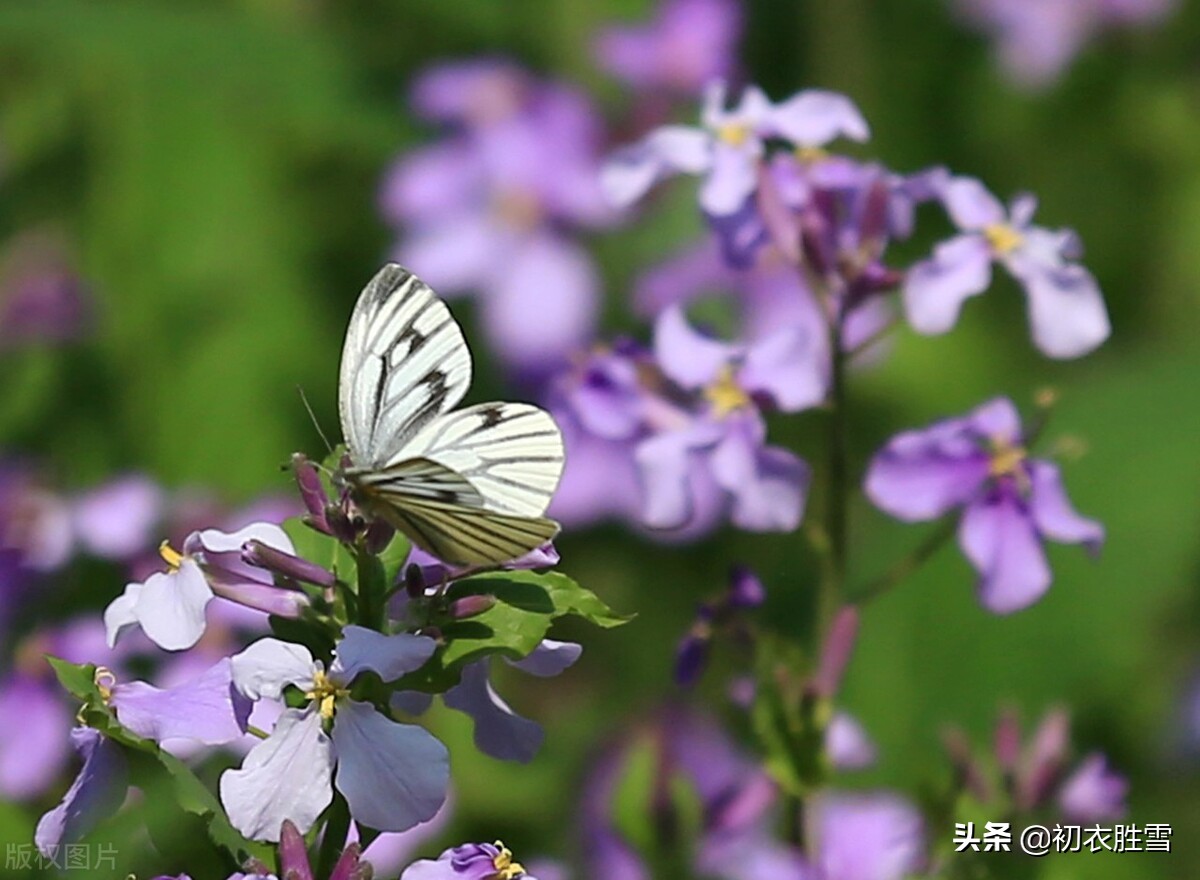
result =
[[[320,714],[289,708],[240,770],[221,774],[221,803],[242,834],[276,843],[284,819],[300,833],[317,821],[334,800],[332,772],[334,746],[320,729]]]

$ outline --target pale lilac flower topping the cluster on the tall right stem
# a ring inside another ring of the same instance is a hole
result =
[[[802,149],[821,148],[838,137],[869,137],[858,108],[835,92],[810,89],[772,104],[761,89],[749,86],[733,109],[725,108],[725,85],[713,83],[704,94],[701,127],[664,126],[616,152],[602,176],[613,204],[631,205],[673,174],[702,174],[701,208],[712,217],[730,217],[745,206],[758,185],[767,138],[782,138]]]

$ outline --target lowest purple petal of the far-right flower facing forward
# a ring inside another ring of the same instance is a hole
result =
[[[979,600],[989,611],[1018,611],[1050,587],[1042,539],[1012,492],[1000,490],[970,504],[959,523],[959,545],[979,573]]]

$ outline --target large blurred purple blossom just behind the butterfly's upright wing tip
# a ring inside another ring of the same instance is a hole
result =
[[[442,294],[475,292],[508,364],[558,364],[599,311],[599,275],[575,233],[616,218],[599,187],[600,116],[581,92],[503,62],[436,68],[414,102],[457,131],[402,156],[384,181],[383,214],[404,233],[397,258]]]

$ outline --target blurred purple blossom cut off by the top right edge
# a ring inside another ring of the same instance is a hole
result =
[[[1152,25],[1175,0],[955,0],[959,13],[995,42],[1004,73],[1019,86],[1045,88],[1100,31]]]

